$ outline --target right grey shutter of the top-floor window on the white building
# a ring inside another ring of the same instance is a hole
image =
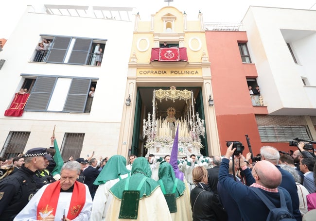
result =
[[[68,63],[82,65],[86,64],[90,45],[91,39],[77,38],[73,46]]]

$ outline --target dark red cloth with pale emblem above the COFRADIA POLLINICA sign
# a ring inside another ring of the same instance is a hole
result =
[[[152,48],[152,61],[186,61],[188,62],[187,48]]]

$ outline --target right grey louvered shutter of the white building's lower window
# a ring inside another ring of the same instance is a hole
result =
[[[90,83],[90,79],[72,79],[64,111],[84,112]]]

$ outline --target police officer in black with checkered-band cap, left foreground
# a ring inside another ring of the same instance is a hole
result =
[[[0,220],[13,221],[36,191],[34,174],[47,164],[46,148],[33,148],[24,154],[24,165],[0,182]]]

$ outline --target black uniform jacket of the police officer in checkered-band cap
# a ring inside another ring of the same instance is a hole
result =
[[[36,191],[35,173],[22,166],[0,182],[0,220],[13,221]]]

